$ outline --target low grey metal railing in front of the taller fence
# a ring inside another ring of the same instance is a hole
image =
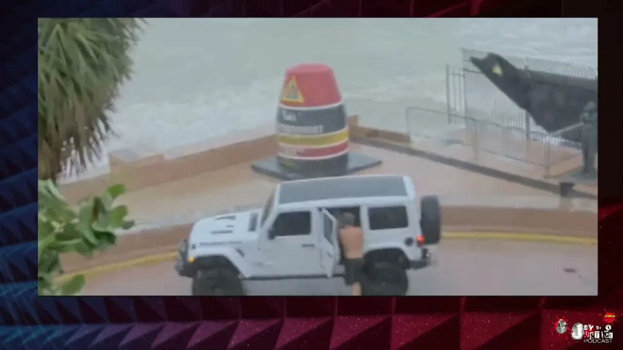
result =
[[[581,156],[579,143],[561,137],[563,133],[578,129],[580,124],[551,134],[527,131],[526,137],[525,128],[500,125],[495,121],[469,118],[447,111],[408,107],[406,119],[409,134],[416,141],[441,141],[441,146],[463,144],[475,160],[482,152],[496,154],[540,167],[544,177],[551,176],[553,166]]]

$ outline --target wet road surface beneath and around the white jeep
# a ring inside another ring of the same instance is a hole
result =
[[[447,240],[437,263],[409,272],[409,295],[597,295],[597,246]],[[83,295],[190,295],[174,262],[109,272]],[[348,295],[341,278],[247,281],[247,295]]]

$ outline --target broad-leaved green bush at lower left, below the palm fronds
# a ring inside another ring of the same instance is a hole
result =
[[[83,275],[75,275],[60,285],[55,278],[63,272],[61,253],[79,253],[90,257],[117,241],[117,232],[130,229],[134,222],[126,220],[128,208],[114,206],[124,185],[108,188],[70,206],[54,182],[39,180],[39,295],[75,295],[85,283]]]

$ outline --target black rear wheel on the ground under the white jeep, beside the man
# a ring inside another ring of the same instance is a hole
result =
[[[378,262],[366,270],[366,278],[361,283],[363,295],[407,295],[409,278],[400,265]]]

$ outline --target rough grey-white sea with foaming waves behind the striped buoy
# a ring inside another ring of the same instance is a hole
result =
[[[445,65],[462,47],[596,66],[597,20],[149,19],[107,149],[274,123],[283,73],[302,62],[331,65],[363,123],[399,130],[407,106],[443,110]]]

